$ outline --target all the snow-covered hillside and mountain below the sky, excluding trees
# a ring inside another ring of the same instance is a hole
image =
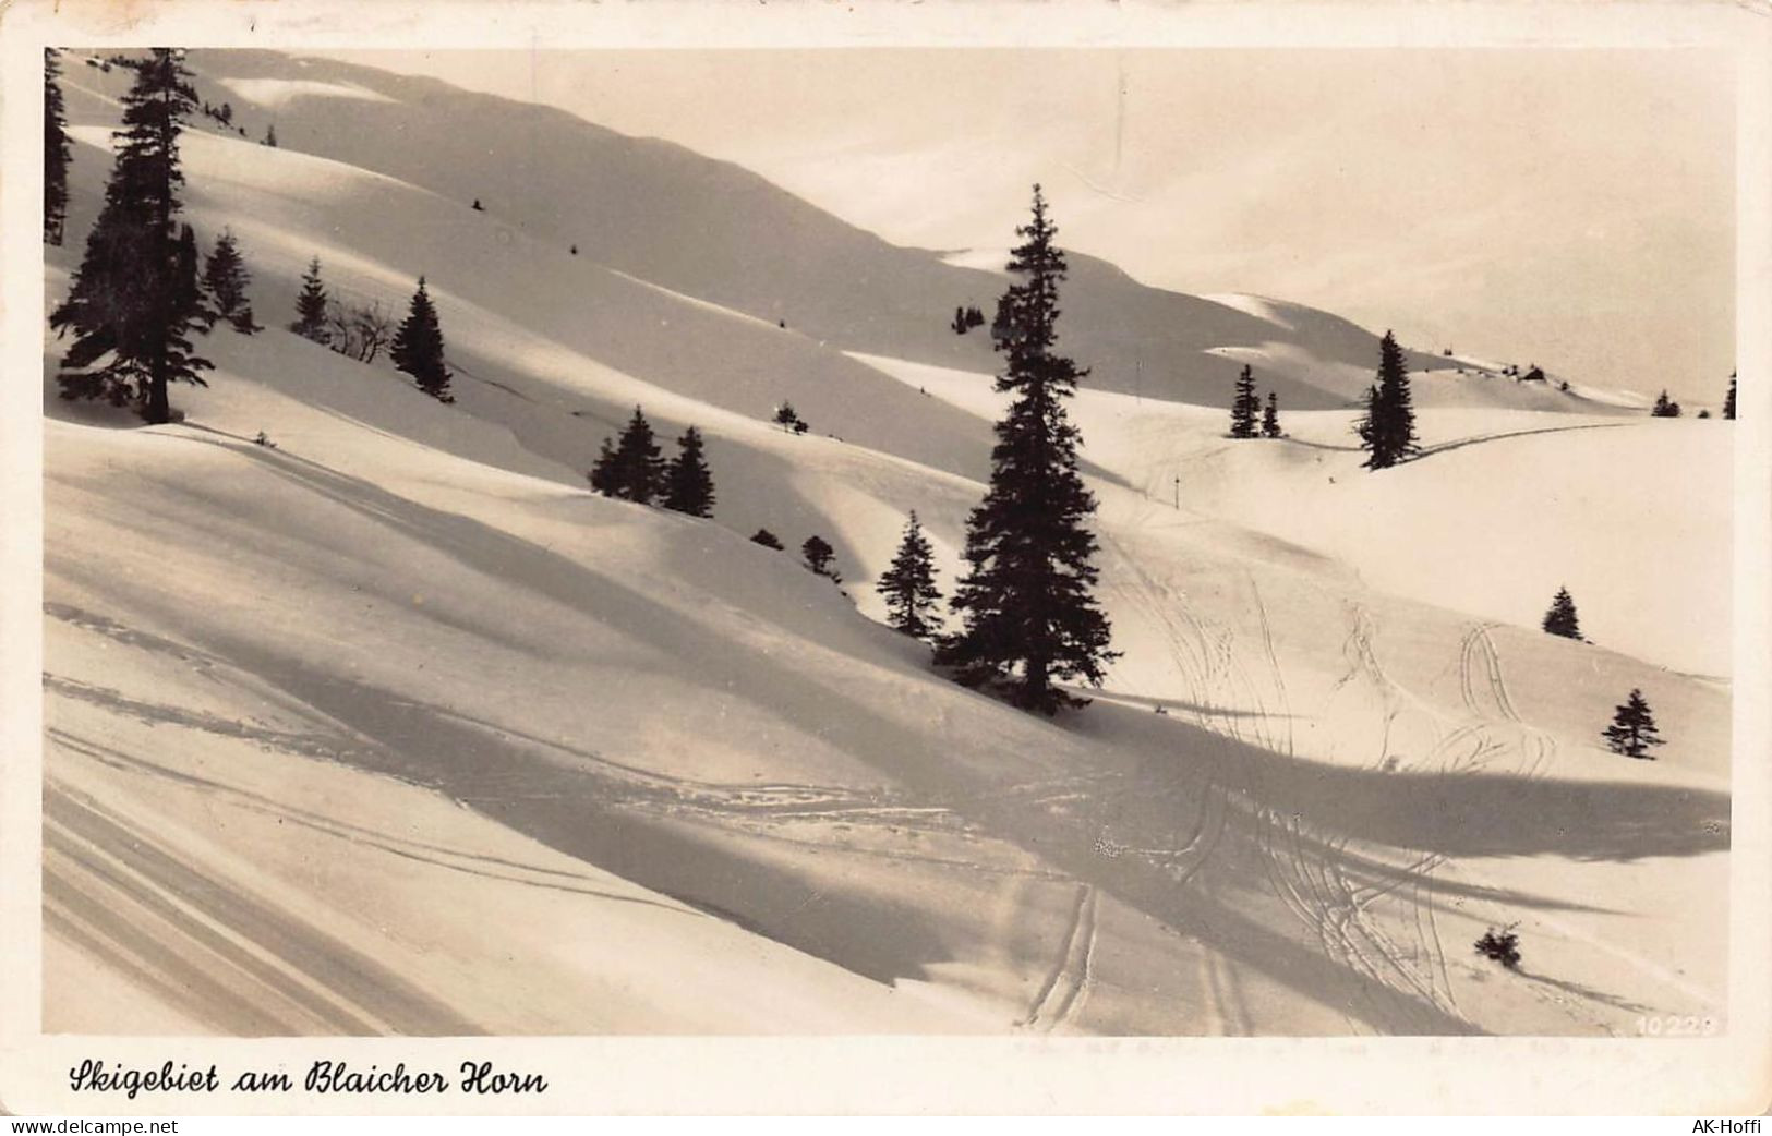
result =
[[[1418,379],[1428,454],[1366,473],[1345,402],[1372,335],[1074,257],[1123,657],[1051,723],[870,619],[913,509],[952,587],[998,402],[983,338],[944,321],[992,273],[551,110],[268,53],[193,67],[248,136],[186,138],[190,220],[239,236],[271,328],[202,344],[177,425],[46,379],[50,1030],[1721,1014],[1728,424],[1467,367]],[[120,85],[67,82],[51,296]],[[273,119],[282,149],[253,142]],[[390,307],[427,276],[454,406],[282,330],[314,255]],[[1286,379],[1290,438],[1223,438],[1244,360]],[[810,434],[769,425],[781,399]],[[714,521],[588,493],[634,404],[705,432]],[[758,526],[828,539],[849,595]],[[1559,585],[1595,643],[1536,631]],[[1630,688],[1660,760],[1598,744]],[[1471,950],[1506,923],[1519,971]]]

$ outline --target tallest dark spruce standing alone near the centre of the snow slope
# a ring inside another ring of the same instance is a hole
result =
[[[991,489],[968,521],[966,562],[952,606],[964,629],[944,638],[936,657],[966,684],[1003,684],[1015,705],[1054,714],[1083,705],[1054,686],[1061,679],[1100,684],[1118,657],[1108,649],[1108,617],[1090,590],[1097,569],[1088,517],[1095,498],[1077,473],[1077,427],[1065,413],[1077,379],[1088,374],[1053,351],[1058,340],[1058,284],[1065,255],[1053,237],[1040,186],[1033,220],[1008,262],[1021,278],[998,301],[994,347],[1006,356],[996,390],[1014,393],[996,424]]]

